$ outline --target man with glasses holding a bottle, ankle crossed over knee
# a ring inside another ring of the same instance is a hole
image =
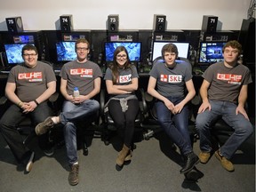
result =
[[[49,116],[43,123],[37,124],[36,134],[41,135],[53,127],[53,124],[64,125],[64,138],[68,154],[70,172],[68,183],[72,186],[78,184],[78,157],[76,146],[75,122],[90,119],[100,109],[100,104],[92,98],[100,92],[102,72],[100,67],[90,60],[87,55],[90,44],[81,38],[76,41],[76,60],[66,63],[60,71],[60,92],[64,96],[60,116]],[[75,87],[80,95],[74,95]]]

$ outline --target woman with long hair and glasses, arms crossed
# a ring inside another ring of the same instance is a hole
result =
[[[107,68],[104,79],[111,96],[108,100],[108,111],[124,142],[116,158],[117,171],[122,168],[124,161],[131,160],[132,157],[134,124],[139,112],[139,100],[134,93],[138,89],[138,78],[137,69],[131,65],[125,47],[116,47],[113,65]]]

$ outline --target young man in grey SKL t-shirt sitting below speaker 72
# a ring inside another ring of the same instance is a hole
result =
[[[199,163],[188,132],[186,104],[196,94],[192,71],[188,63],[175,61],[178,58],[178,48],[175,44],[165,44],[162,57],[164,63],[156,63],[149,73],[148,93],[156,98],[157,121],[185,156],[186,162],[180,173],[187,173]],[[187,95],[184,93],[185,88],[188,90]]]

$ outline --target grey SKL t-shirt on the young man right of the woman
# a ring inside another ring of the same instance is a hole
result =
[[[156,63],[149,75],[156,78],[156,91],[164,97],[184,97],[185,83],[192,79],[188,63],[176,63],[168,68],[165,63]]]

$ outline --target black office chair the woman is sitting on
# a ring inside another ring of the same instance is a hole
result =
[[[148,116],[148,108],[147,103],[145,100],[144,90],[139,89],[135,92],[136,96],[138,97],[139,103],[140,103],[140,109],[135,119],[135,132],[143,132],[144,126],[143,121]],[[105,145],[109,144],[109,140],[111,139],[112,133],[116,132],[116,126],[112,119],[112,117],[109,115],[108,111],[104,111],[105,104],[108,101],[108,93],[106,89],[101,89],[100,92],[100,116],[101,116],[101,127],[102,130],[102,140],[104,141]],[[133,146],[135,148],[135,146]]]

